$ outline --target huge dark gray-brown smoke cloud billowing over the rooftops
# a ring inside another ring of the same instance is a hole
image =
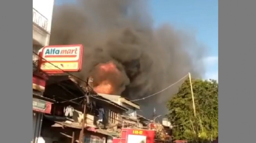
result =
[[[102,77],[115,84],[115,94],[138,99],[175,83],[188,72],[193,77],[204,73],[204,47],[195,36],[177,31],[169,24],[153,28],[147,0],[76,0],[55,5],[51,45],[83,44],[82,71],[74,73],[86,80]],[[114,75],[98,76],[99,65],[113,62]],[[151,98],[138,101],[142,115],[166,114],[166,102],[182,81]],[[84,83],[80,83],[84,84]]]

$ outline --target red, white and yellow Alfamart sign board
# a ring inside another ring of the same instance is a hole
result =
[[[82,55],[82,45],[45,46],[40,53],[40,70],[49,73],[79,72]]]

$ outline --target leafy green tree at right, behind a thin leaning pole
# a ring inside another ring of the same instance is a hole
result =
[[[175,140],[196,140],[196,128],[200,142],[218,136],[218,83],[215,80],[192,80],[196,118],[194,117],[189,79],[167,102],[168,118],[173,125]]]

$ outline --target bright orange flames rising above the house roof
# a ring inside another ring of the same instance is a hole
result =
[[[100,76],[100,78],[104,80],[100,81],[100,83],[94,88],[94,90],[97,93],[114,94],[114,81],[111,81],[110,79],[113,79],[113,76],[118,78],[120,74],[120,71],[117,69],[116,65],[113,62],[102,63],[99,65],[98,74],[98,76]]]

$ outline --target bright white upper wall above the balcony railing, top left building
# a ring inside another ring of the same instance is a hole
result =
[[[48,20],[47,32],[50,33],[52,26],[52,12],[54,0],[33,0],[33,8]]]

